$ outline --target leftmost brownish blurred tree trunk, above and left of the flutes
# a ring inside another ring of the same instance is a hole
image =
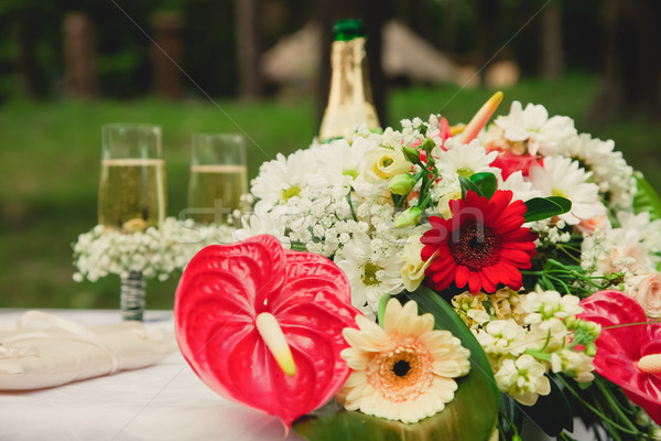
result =
[[[65,87],[76,98],[98,96],[94,23],[85,12],[68,12],[64,18]]]

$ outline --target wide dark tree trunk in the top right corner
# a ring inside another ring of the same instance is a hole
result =
[[[629,115],[658,115],[661,32],[655,0],[608,0],[600,90],[590,111],[596,122]]]

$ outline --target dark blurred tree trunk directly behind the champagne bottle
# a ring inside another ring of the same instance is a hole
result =
[[[316,87],[317,121],[321,122],[328,101],[333,25],[340,19],[362,19],[368,33],[366,52],[372,98],[381,126],[388,126],[388,108],[386,105],[388,85],[381,68],[381,31],[386,21],[391,18],[390,2],[388,0],[322,0],[316,2],[313,17],[322,24],[324,31],[322,47],[319,47],[322,66]]]

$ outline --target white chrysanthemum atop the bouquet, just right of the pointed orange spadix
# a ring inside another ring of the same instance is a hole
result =
[[[557,153],[560,144],[576,135],[574,121],[568,117],[549,118],[542,105],[513,101],[507,116],[496,118],[494,123],[503,130],[503,137],[512,142],[527,142],[528,152],[549,157]]]

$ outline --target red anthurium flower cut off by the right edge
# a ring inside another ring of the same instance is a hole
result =
[[[646,323],[640,304],[621,291],[599,291],[581,302],[578,316],[602,325],[595,342],[595,370],[661,424],[661,324]]]

